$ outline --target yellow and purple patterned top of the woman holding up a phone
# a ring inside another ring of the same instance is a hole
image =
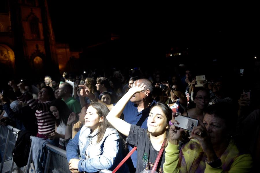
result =
[[[191,140],[184,144],[181,150],[179,146],[168,143],[165,151],[165,172],[250,172],[252,157],[250,154],[240,153],[234,142],[230,142],[226,151],[221,155],[222,165],[212,168],[205,163],[206,154],[200,147],[198,140]]]

